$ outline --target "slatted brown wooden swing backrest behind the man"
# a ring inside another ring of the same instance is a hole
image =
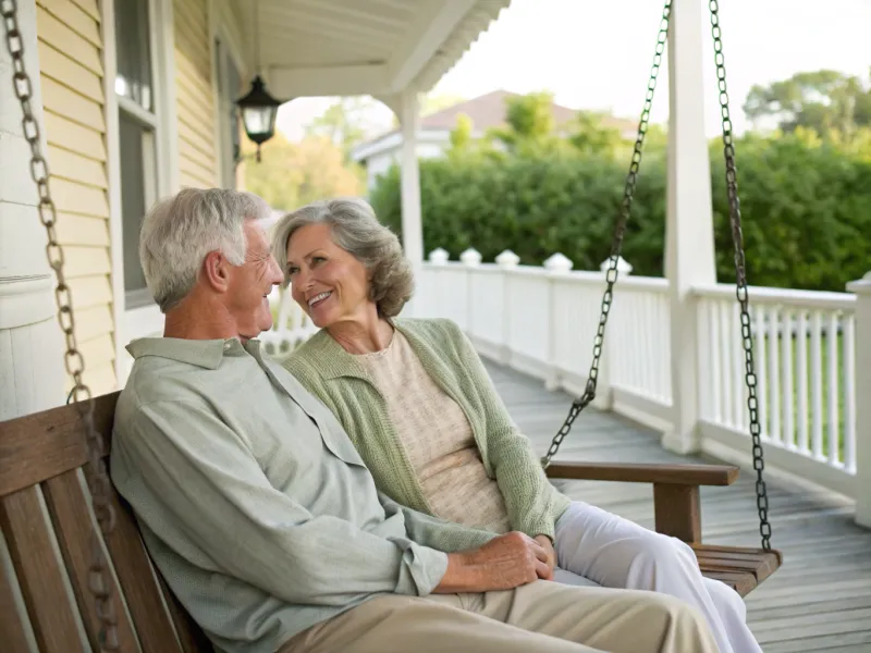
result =
[[[107,454],[118,394],[95,399],[95,427]],[[0,559],[4,652],[28,652],[30,637],[46,653],[99,650],[88,581],[97,529],[85,483],[89,475],[74,406],[0,422],[0,527],[9,551]],[[128,506],[114,492],[112,502],[115,527],[100,541],[114,570],[120,650],[211,653],[151,565]]]

